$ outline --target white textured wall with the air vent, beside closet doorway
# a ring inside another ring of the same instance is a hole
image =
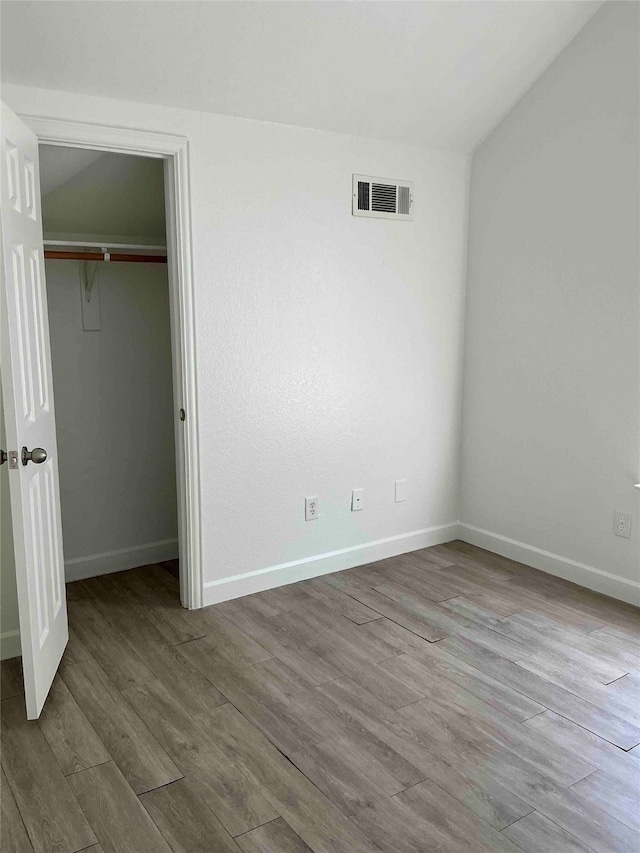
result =
[[[205,583],[455,536],[466,157],[18,86],[3,97],[189,138]],[[412,179],[414,221],[352,217],[354,172]],[[303,520],[305,495],[319,497],[317,521]],[[304,562],[341,549],[353,550]]]

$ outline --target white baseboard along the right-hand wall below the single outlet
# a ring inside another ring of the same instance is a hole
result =
[[[470,545],[477,545],[479,548],[492,551],[494,554],[500,554],[500,556],[507,557],[510,560],[517,560],[519,563],[540,569],[547,574],[555,575],[587,589],[593,589],[595,592],[601,592],[603,595],[609,595],[611,598],[640,605],[640,583],[638,581],[621,578],[618,575],[611,574],[611,572],[605,572],[603,569],[596,569],[595,566],[578,563],[576,560],[561,557],[559,554],[553,554],[550,551],[543,551],[541,548],[535,548],[533,545],[500,536],[490,530],[473,527],[471,524],[459,522],[458,535],[463,542],[468,542]]]

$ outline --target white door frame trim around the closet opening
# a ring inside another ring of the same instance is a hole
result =
[[[189,140],[154,131],[43,118],[19,117],[43,145],[90,148],[164,160],[167,271],[171,313],[180,600],[193,610],[203,604],[200,460],[191,249]],[[186,419],[180,420],[180,409]]]

